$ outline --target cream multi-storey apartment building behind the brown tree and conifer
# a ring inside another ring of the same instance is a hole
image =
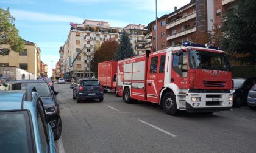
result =
[[[90,71],[90,61],[94,50],[108,39],[118,41],[121,30],[126,30],[129,34],[135,54],[139,55],[146,51],[145,44],[149,40],[144,39],[145,33],[148,32],[144,29],[144,25],[110,27],[108,22],[87,19],[82,24],[71,23],[68,39],[62,46],[63,73],[70,73],[71,77],[79,78],[93,76],[93,72]],[[80,50],[82,53],[77,56]]]

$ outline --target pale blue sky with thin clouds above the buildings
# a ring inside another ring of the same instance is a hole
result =
[[[158,17],[186,5],[190,0],[158,0]],[[59,61],[59,48],[68,38],[69,22],[82,23],[84,19],[107,21],[112,27],[142,24],[155,20],[155,0],[1,0],[0,6],[15,17],[20,36],[37,44],[41,60],[48,64]]]

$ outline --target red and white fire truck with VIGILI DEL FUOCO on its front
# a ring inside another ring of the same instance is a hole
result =
[[[118,61],[117,91],[126,103],[157,103],[166,114],[230,110],[232,75],[226,54],[185,43]]]

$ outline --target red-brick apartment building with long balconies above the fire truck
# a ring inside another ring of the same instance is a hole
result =
[[[155,51],[156,38],[158,50],[162,50],[192,41],[192,37],[200,36],[196,33],[207,33],[213,28],[215,20],[213,11],[212,0],[191,0],[190,3],[179,9],[174,7],[174,12],[157,19],[157,26],[155,21],[148,24],[146,28],[150,33],[145,35],[145,38],[152,41],[146,44],[146,48]]]

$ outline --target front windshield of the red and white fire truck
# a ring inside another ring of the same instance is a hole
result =
[[[190,50],[190,69],[210,69],[230,71],[229,61],[223,53]]]

